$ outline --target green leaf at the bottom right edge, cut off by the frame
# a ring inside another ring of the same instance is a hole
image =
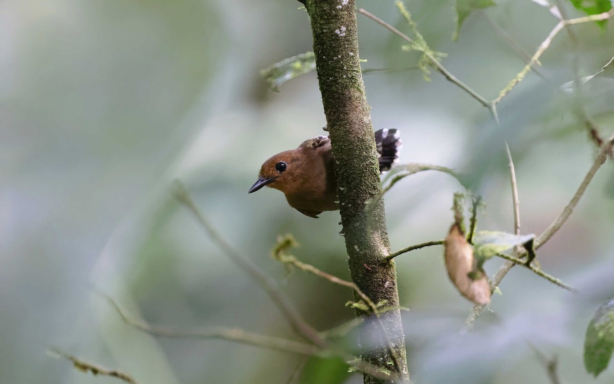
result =
[[[588,323],[584,366],[595,377],[607,368],[614,350],[614,300],[601,305]]]

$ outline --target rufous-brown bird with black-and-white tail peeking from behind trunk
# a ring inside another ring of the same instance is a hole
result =
[[[379,129],[375,132],[375,144],[382,174],[398,161],[402,147],[400,132]],[[313,218],[324,211],[339,209],[329,136],[312,137],[296,149],[271,156],[260,167],[258,177],[248,193],[263,186],[282,191],[290,207]]]

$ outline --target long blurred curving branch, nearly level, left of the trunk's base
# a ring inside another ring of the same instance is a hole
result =
[[[109,304],[111,304],[111,306],[115,309],[115,312],[117,312],[126,325],[153,336],[168,337],[171,339],[223,339],[241,344],[254,345],[255,347],[269,348],[307,356],[314,356],[322,351],[321,348],[316,347],[316,345],[305,344],[303,342],[284,339],[282,337],[265,336],[247,332],[239,328],[211,327],[201,329],[199,331],[181,331],[151,326],[147,323],[131,318],[125,311],[122,310],[119,304],[117,304],[117,302],[115,302],[107,294],[99,290],[96,290],[96,293],[107,299]]]

